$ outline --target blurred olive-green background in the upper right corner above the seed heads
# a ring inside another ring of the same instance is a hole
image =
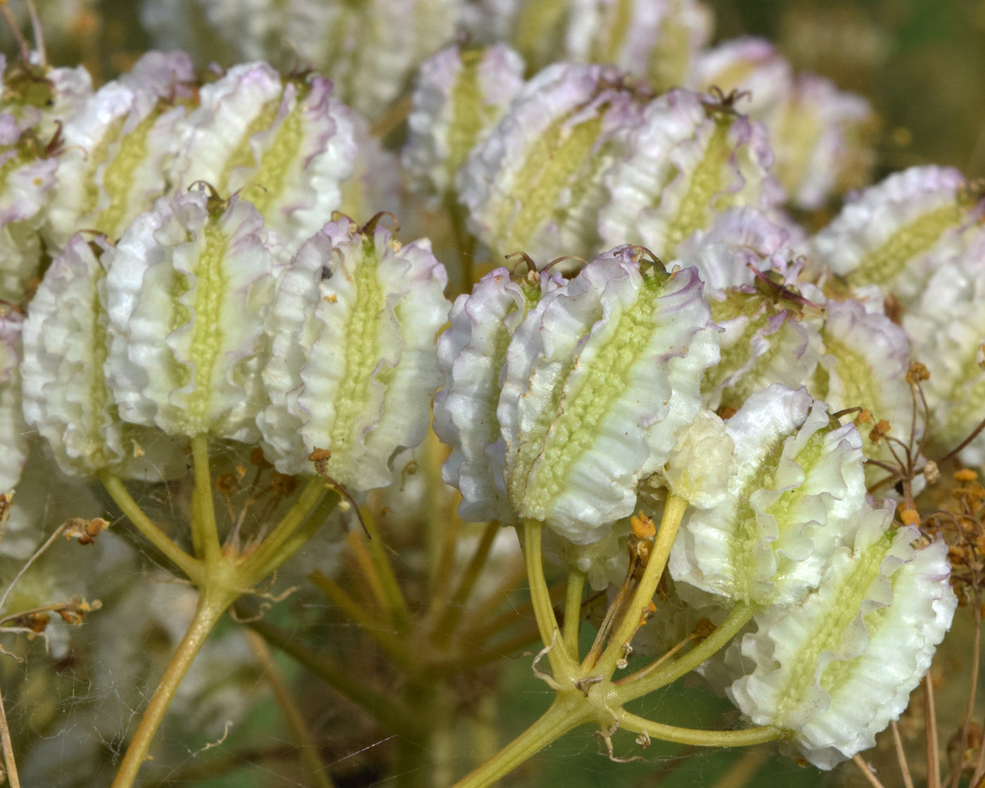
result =
[[[716,38],[764,35],[798,69],[870,99],[880,172],[952,164],[985,176],[982,0],[710,0]]]

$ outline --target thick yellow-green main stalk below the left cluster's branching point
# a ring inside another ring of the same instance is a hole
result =
[[[205,642],[209,633],[213,630],[216,623],[222,618],[226,609],[235,599],[235,594],[230,592],[210,593],[206,590],[199,598],[198,609],[195,611],[195,618],[192,619],[188,630],[178,644],[177,650],[171,657],[167,670],[158,689],[155,690],[151,702],[144,711],[144,716],[140,720],[137,732],[127,748],[126,755],[120,763],[116,777],[113,779],[111,788],[130,788],[137,778],[137,772],[147,758],[147,751],[151,747],[154,734],[157,733],[161,721],[164,719],[164,712],[174,697],[174,692],[181,684],[181,680],[191,667],[192,661],[198,654],[199,649]]]

